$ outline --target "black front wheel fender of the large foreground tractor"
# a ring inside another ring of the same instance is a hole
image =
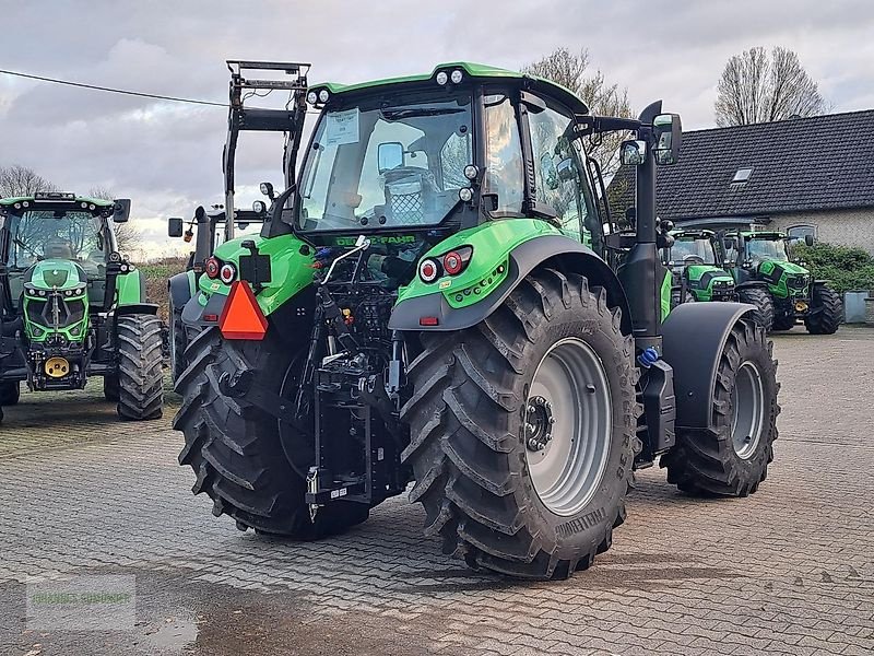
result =
[[[713,429],[711,400],[731,329],[756,308],[744,303],[685,303],[662,325],[662,358],[674,370],[677,429]]]

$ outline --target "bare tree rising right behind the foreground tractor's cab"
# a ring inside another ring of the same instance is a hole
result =
[[[522,70],[569,89],[589,105],[592,114],[634,117],[634,110],[628,103],[628,90],[618,84],[609,84],[600,70],[590,74],[588,69],[588,50],[582,49],[575,54],[567,48],[558,48]],[[606,179],[619,167],[619,144],[626,139],[627,132],[606,132],[589,139],[589,155],[601,165]]]

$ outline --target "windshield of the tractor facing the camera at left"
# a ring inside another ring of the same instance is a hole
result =
[[[7,265],[26,269],[38,260],[73,260],[91,274],[106,265],[107,249],[101,236],[101,218],[90,212],[35,210],[10,220]]]

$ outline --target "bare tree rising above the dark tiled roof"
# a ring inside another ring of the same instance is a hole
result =
[[[816,82],[792,50],[749,48],[729,59],[717,86],[717,125],[747,126],[828,110]]]

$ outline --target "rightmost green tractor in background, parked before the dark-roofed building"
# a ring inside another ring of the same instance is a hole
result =
[[[813,237],[806,236],[808,246]],[[725,260],[739,288],[757,285],[773,307],[770,329],[790,330],[803,319],[811,335],[832,335],[843,320],[840,295],[825,280],[790,261],[789,238],[781,232],[731,231],[723,236]],[[755,289],[755,288],[754,288]]]

